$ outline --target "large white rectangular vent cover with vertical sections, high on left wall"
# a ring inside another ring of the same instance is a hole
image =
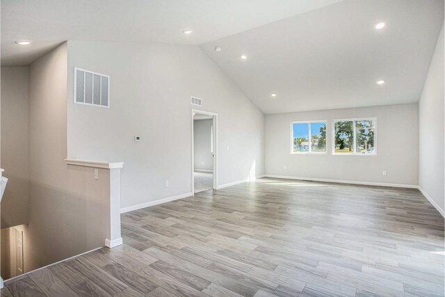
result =
[[[110,77],[74,68],[74,103],[110,107]]]

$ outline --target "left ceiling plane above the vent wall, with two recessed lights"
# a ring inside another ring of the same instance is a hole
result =
[[[1,0],[1,65],[29,65],[65,40],[201,45],[338,1]]]

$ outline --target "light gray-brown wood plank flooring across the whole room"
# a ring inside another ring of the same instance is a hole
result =
[[[2,296],[444,296],[444,218],[416,189],[259,179],[122,215],[124,245]]]

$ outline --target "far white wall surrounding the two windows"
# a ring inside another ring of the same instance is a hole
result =
[[[377,118],[377,156],[331,154],[332,120],[371,117]],[[291,122],[305,120],[327,120],[327,154],[290,154]],[[415,186],[418,125],[417,104],[266,115],[266,174]]]

